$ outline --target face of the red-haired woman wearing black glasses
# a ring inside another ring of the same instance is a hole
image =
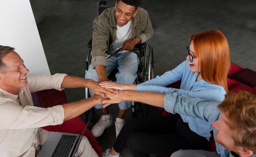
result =
[[[200,72],[200,65],[199,65],[199,63],[198,63],[198,58],[197,58],[197,56],[196,56],[196,52],[195,52],[195,49],[194,49],[193,41],[191,42],[189,48],[190,48],[190,52],[189,52],[189,53],[190,53],[193,57],[195,57],[195,58],[193,58],[193,61],[192,61],[192,62],[189,61],[189,55],[186,57],[186,60],[189,61],[190,70],[191,70],[192,72]]]

